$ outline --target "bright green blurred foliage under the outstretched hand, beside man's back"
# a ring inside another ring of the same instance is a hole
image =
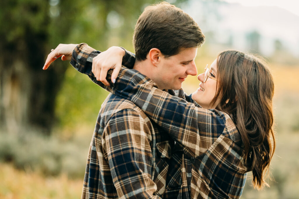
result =
[[[69,66],[57,96],[56,115],[60,127],[94,127],[102,102],[108,92]]]

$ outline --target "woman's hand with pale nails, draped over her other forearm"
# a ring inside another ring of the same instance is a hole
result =
[[[121,69],[121,63],[124,55],[125,51],[122,48],[112,46],[94,57],[91,72],[93,72],[97,81],[102,82],[106,86],[110,86],[109,82],[106,80],[106,76],[108,70],[113,68],[111,81],[115,83],[117,75]]]

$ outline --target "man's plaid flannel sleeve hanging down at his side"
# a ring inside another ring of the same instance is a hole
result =
[[[123,109],[112,115],[102,143],[118,198],[159,198],[153,195],[151,132],[138,112]]]

